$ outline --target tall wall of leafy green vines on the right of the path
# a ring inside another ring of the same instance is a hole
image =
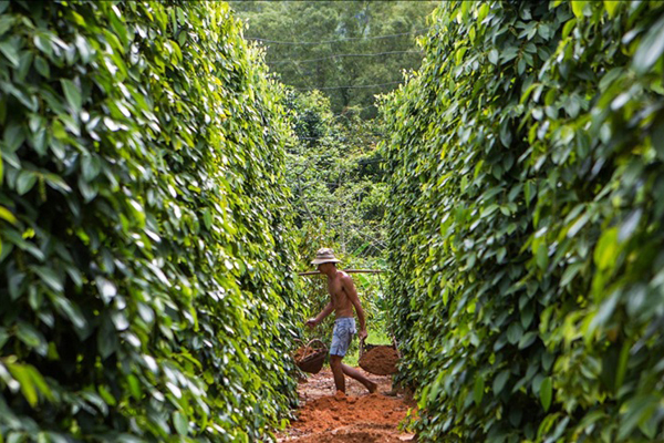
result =
[[[664,439],[664,3],[449,1],[386,99],[432,441]]]

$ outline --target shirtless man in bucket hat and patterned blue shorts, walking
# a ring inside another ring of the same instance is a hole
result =
[[[366,324],[364,322],[364,311],[360,305],[360,298],[357,297],[353,280],[347,274],[336,269],[336,264],[340,261],[334,257],[332,249],[329,248],[319,249],[315,254],[315,259],[311,264],[318,265],[321,274],[328,276],[328,292],[330,292],[331,300],[315,318],[308,320],[305,324],[309,328],[314,328],[334,311],[336,319],[334,320],[334,332],[332,333],[332,346],[330,347],[330,367],[334,375],[336,391],[345,394],[345,379],[343,374],[346,374],[364,384],[369,392],[373,393],[376,392],[376,383],[369,380],[359,370],[341,362],[353,340],[353,334],[356,332],[353,307],[355,307],[355,312],[357,312],[357,319],[360,320],[357,337],[361,341],[366,338]]]

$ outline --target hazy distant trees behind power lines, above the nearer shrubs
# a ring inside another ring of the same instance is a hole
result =
[[[402,70],[419,65],[415,35],[425,32],[425,18],[435,4],[237,1],[231,7],[247,21],[247,38],[262,41],[266,61],[283,83],[323,89],[335,113],[360,106],[363,117],[373,117],[374,94],[391,91],[401,82]]]

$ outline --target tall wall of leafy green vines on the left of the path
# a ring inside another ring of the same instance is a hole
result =
[[[300,302],[259,59],[226,3],[0,3],[3,439],[271,439]]]

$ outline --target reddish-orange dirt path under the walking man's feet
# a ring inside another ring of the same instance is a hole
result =
[[[377,393],[346,377],[346,396],[332,395],[334,380],[329,368],[300,383],[298,420],[279,436],[279,442],[298,443],[398,443],[414,441],[397,429],[408,405],[403,395],[390,396],[390,377],[367,374],[378,383]]]

